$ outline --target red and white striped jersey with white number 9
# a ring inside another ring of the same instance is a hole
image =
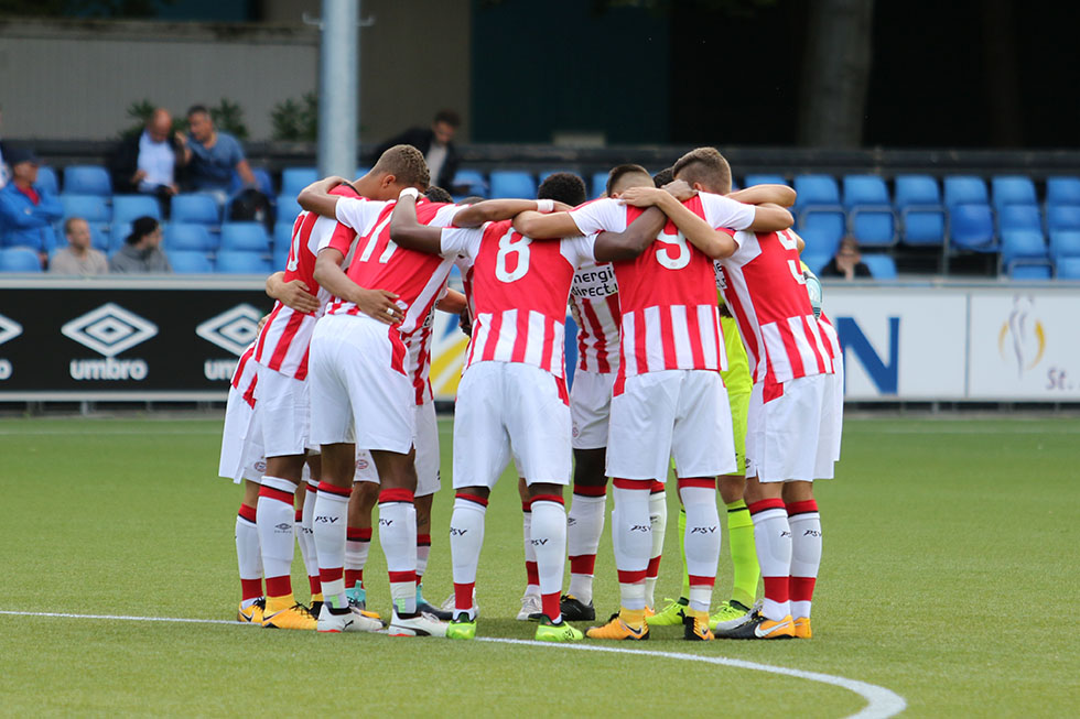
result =
[[[748,227],[754,208],[701,193],[684,203],[712,227]],[[570,216],[583,233],[622,232],[641,209],[600,199]],[[635,260],[613,262],[622,309],[618,378],[661,370],[727,369],[712,260],[668,222]]]

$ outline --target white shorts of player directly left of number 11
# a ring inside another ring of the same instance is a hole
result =
[[[311,432],[307,382],[260,366],[255,400],[263,416],[270,418],[262,423],[267,457],[304,454]]]

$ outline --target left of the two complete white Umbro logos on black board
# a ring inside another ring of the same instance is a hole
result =
[[[73,359],[74,380],[144,380],[149,367],[142,359],[116,359],[120,352],[158,335],[158,326],[109,302],[61,327],[61,334],[105,356],[104,360]]]

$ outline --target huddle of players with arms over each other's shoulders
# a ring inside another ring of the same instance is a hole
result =
[[[592,201],[580,177],[557,173],[536,200],[454,204],[410,145],[353,183],[305,188],[285,271],[267,282],[277,303],[226,411],[220,473],[245,481],[238,619],[472,639],[488,497],[512,458],[528,573],[518,619],[538,622],[536,639],[644,640],[672,624],[688,640],[809,639],[821,559],[812,481],[840,457],[840,345],[790,230],[795,192],[731,188],[726,160],[700,148],[656,177],[614,167]],[[455,264],[464,295],[447,288]],[[580,355],[570,392],[568,303]],[[471,337],[454,413],[454,593],[442,608],[421,581],[440,489],[435,309],[460,314]],[[683,588],[660,608],[671,465]],[[608,478],[619,610],[583,634],[570,622],[596,618]],[[735,577],[710,614],[717,489]],[[387,622],[364,588],[375,504]],[[294,541],[310,608],[293,596]]]

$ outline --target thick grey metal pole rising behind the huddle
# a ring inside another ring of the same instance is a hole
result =
[[[360,0],[323,0],[318,48],[318,174],[356,176]]]

